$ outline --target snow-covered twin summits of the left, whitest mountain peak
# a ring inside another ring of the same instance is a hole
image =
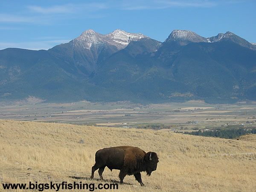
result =
[[[74,39],[75,44],[90,49],[91,46],[100,46],[101,44],[108,43],[117,47],[117,49],[125,48],[131,41],[138,41],[140,38],[146,38],[147,36],[141,33],[128,33],[120,29],[102,35],[92,29],[84,31],[78,38]]]

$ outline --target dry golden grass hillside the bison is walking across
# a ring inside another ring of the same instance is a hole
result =
[[[225,140],[164,131],[0,120],[0,183],[119,181],[119,171],[108,168],[103,172],[106,181],[89,179],[95,152],[133,145],[157,152],[160,162],[150,177],[142,174],[145,187],[126,176],[117,191],[255,191],[256,135],[245,137]],[[78,143],[81,139],[84,144]],[[241,154],[248,152],[254,154]],[[95,178],[99,178],[97,172]]]

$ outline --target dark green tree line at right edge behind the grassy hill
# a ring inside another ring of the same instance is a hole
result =
[[[219,138],[225,138],[225,139],[235,139],[244,134],[256,134],[256,128],[219,129],[219,130],[209,130],[209,131],[199,130],[199,131],[192,131],[192,132],[185,131],[184,134],[198,135],[198,136],[204,136],[204,137],[219,137]]]

